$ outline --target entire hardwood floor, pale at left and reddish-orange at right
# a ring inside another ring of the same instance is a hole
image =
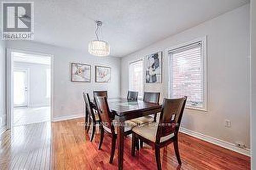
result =
[[[109,164],[111,137],[105,135],[99,151],[96,129],[90,142],[82,118],[14,127],[12,133],[7,131],[0,138],[0,169],[117,169],[117,152],[113,164]],[[170,144],[161,149],[163,169],[250,169],[249,157],[182,133],[179,147],[182,166]],[[132,157],[131,138],[127,137],[124,169],[155,168],[154,151],[145,146]]]

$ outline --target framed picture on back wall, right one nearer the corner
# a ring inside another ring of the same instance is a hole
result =
[[[95,66],[95,82],[108,83],[111,80],[111,67]]]

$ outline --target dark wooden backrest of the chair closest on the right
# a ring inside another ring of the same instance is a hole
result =
[[[178,134],[186,100],[186,96],[180,99],[164,99],[156,134],[157,143],[161,137]]]

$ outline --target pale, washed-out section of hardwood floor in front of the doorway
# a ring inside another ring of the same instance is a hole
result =
[[[51,124],[17,126],[0,138],[0,169],[50,169]]]

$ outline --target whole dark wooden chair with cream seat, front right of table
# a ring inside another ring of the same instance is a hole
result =
[[[186,96],[180,99],[164,99],[159,123],[152,122],[132,129],[132,156],[135,156],[135,144],[140,139],[155,149],[157,169],[161,169],[160,148],[173,142],[177,160],[181,165],[178,132],[186,99]]]

